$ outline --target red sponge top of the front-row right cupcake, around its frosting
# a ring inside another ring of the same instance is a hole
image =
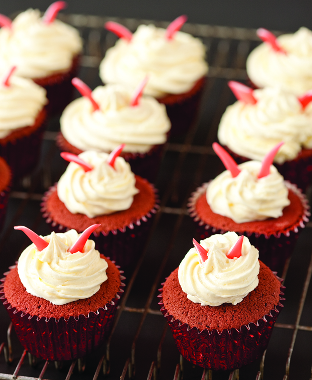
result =
[[[187,298],[181,289],[178,269],[167,278],[163,287],[163,302],[168,313],[191,328],[221,332],[224,329],[240,329],[250,322],[257,323],[279,304],[281,283],[261,261],[259,284],[237,305],[225,303],[220,306],[201,306]]]

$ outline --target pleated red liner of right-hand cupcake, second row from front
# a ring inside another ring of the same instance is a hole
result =
[[[224,229],[215,228],[212,225],[206,224],[197,214],[196,202],[198,198],[207,190],[209,183],[203,184],[192,193],[189,203],[188,211],[196,224],[196,231],[200,239],[214,235],[215,233],[224,234],[228,232]],[[270,234],[261,234],[252,231],[234,231],[238,235],[245,235],[249,241],[259,250],[259,260],[268,265],[268,267],[279,273],[282,273],[286,260],[292,255],[295,248],[300,231],[305,228],[305,223],[309,221],[310,206],[308,199],[296,185],[285,182],[288,189],[292,190],[301,200],[304,208],[303,218],[298,220],[296,224],[285,230],[284,232],[272,232]]]

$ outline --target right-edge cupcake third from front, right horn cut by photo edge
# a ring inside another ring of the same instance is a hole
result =
[[[238,82],[229,85],[239,100],[221,118],[219,142],[241,163],[262,160],[276,144],[284,141],[275,165],[285,180],[305,191],[312,183],[312,105],[309,102],[312,97],[298,99],[279,88],[253,91]]]

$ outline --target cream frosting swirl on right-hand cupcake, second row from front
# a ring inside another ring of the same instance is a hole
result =
[[[216,214],[236,223],[278,218],[290,204],[284,178],[271,165],[270,174],[258,179],[261,162],[248,161],[239,165],[241,173],[233,178],[226,170],[208,186],[207,202]]]

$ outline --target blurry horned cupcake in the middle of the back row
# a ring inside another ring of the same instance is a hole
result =
[[[133,34],[108,22],[106,28],[121,38],[100,64],[103,83],[134,89],[148,75],[144,94],[166,106],[173,135],[187,131],[194,122],[208,72],[204,44],[178,31],[186,19],[178,17],[167,29],[140,25]]]

